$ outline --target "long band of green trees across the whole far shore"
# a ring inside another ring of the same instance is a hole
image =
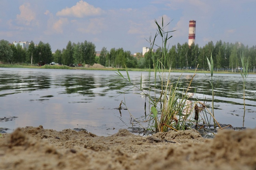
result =
[[[23,49],[19,44],[15,46],[6,40],[0,41],[0,61],[9,64],[31,63],[32,65],[50,64],[51,62],[62,65],[78,65],[99,63],[105,67],[124,68],[153,68],[153,60],[156,61],[162,57],[162,49],[158,48],[155,52],[148,51],[142,56],[137,53],[136,56],[123,48],[112,48],[109,51],[103,47],[100,55],[96,56],[96,46],[92,42],[84,41],[82,43],[68,42],[66,49],[57,49],[52,53],[49,43],[40,41],[35,45],[30,42],[28,49]],[[225,43],[221,40],[214,45],[212,41],[204,47],[198,44],[188,43],[173,45],[168,49],[166,58],[166,69],[198,69],[208,70],[207,57],[212,55],[214,69],[216,71],[238,71],[241,67],[241,54],[244,54],[245,61],[248,60],[250,70],[255,72],[256,66],[256,47],[244,46],[241,43]]]

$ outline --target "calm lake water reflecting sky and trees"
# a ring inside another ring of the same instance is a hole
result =
[[[122,73],[126,75],[126,72]],[[142,87],[148,90],[148,72],[131,71],[129,74],[137,85],[142,75]],[[171,81],[176,83],[180,75],[171,73]],[[192,77],[192,73],[183,73],[181,87],[187,87]],[[213,79],[214,84],[217,83],[215,118],[219,123],[242,127],[244,109],[241,75],[214,73]],[[143,126],[147,126],[148,123],[143,122],[147,119],[144,110],[147,98],[137,88],[131,87],[114,71],[0,68],[0,117],[17,117],[12,121],[3,120],[0,127],[10,129],[6,132],[12,132],[17,127],[39,125],[57,131],[83,128],[96,135],[108,136],[119,129],[140,127],[129,112]],[[256,127],[255,87],[256,75],[249,74],[245,90],[246,128]],[[211,86],[205,74],[199,73],[194,78],[189,92],[195,91],[195,96],[201,101],[205,98],[206,105],[211,107]],[[129,112],[116,109],[122,100]],[[146,106],[148,115],[147,102]]]

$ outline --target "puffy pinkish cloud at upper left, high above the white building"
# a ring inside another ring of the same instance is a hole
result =
[[[20,14],[16,16],[17,22],[30,26],[32,21],[35,21],[35,12],[30,9],[30,3],[25,3],[19,6]]]

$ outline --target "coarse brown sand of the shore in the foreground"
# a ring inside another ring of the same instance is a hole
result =
[[[125,129],[103,137],[87,131],[18,128],[0,137],[0,169],[256,169],[256,130],[196,130],[139,136]]]

